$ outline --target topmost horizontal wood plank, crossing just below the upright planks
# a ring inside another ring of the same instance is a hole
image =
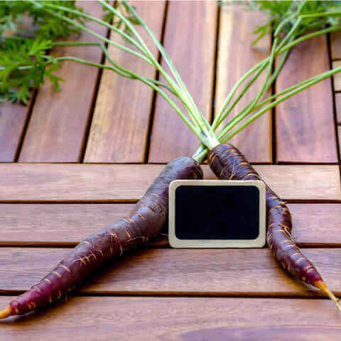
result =
[[[0,201],[138,200],[163,165],[0,164]],[[334,165],[255,166],[285,200],[341,200],[340,170]],[[205,178],[215,178],[203,166]]]

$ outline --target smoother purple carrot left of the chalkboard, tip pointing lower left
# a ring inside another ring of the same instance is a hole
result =
[[[0,311],[0,318],[28,313],[58,301],[105,261],[155,237],[168,217],[168,185],[176,179],[193,178],[202,178],[202,170],[193,158],[181,157],[168,163],[129,217],[85,238],[50,274]]]

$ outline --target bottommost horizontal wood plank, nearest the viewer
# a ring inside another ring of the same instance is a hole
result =
[[[330,301],[278,298],[75,297],[0,325],[6,341],[337,341],[341,330]]]

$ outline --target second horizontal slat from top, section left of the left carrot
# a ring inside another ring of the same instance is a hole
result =
[[[1,204],[1,244],[75,245],[133,210],[134,204]]]

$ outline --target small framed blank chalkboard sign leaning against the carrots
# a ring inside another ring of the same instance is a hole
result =
[[[264,247],[261,181],[175,180],[169,188],[171,247]]]

